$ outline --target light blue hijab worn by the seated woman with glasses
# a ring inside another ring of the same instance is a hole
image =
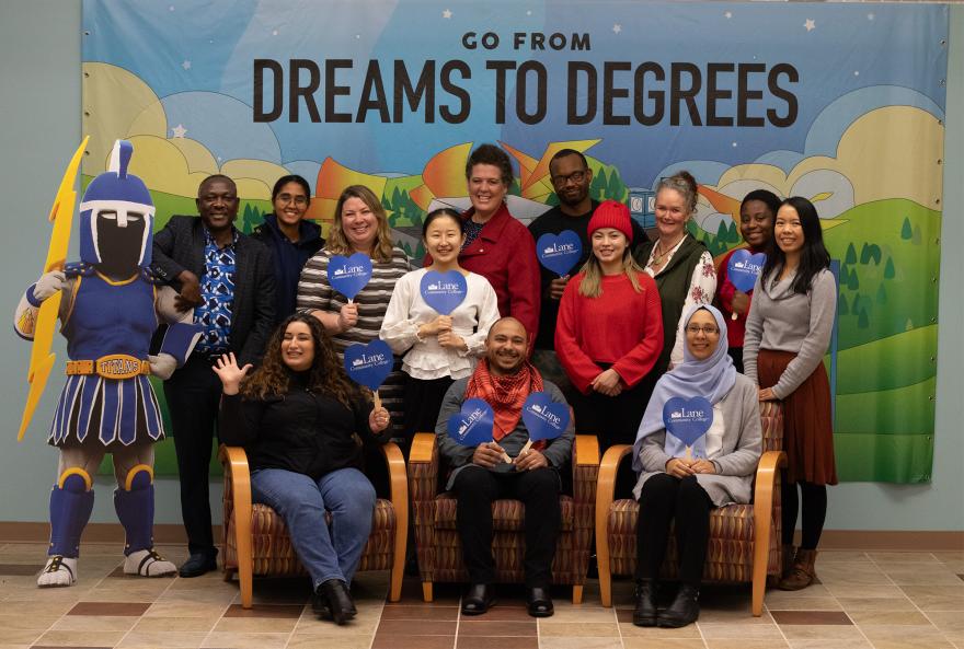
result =
[[[716,327],[720,329],[716,349],[710,358],[697,360],[690,352],[689,346],[684,345],[682,363],[659,378],[653,390],[653,396],[650,397],[650,404],[646,406],[640,430],[636,432],[636,441],[633,443],[633,470],[636,473],[643,470],[640,465],[640,449],[643,445],[643,439],[666,428],[663,422],[663,406],[667,401],[677,396],[682,398],[701,396],[716,405],[733,390],[733,385],[736,383],[736,368],[727,354],[730,346],[726,343],[726,318],[723,317],[723,314],[715,306],[696,304],[686,312],[680,326],[686,329],[690,318],[700,309],[712,313],[716,321]],[[676,453],[669,454],[675,455]]]

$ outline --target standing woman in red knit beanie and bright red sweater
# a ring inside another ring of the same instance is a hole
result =
[[[587,230],[593,255],[562,294],[555,350],[581,393],[576,432],[597,434],[605,450],[635,440],[658,379],[663,311],[656,282],[630,254],[629,209],[607,200]]]

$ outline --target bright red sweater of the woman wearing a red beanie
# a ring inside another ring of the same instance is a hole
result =
[[[602,294],[578,292],[585,274],[565,287],[555,326],[555,352],[565,373],[582,393],[611,363],[629,387],[639,383],[663,351],[663,309],[656,282],[640,273],[640,292],[624,274],[602,278]]]

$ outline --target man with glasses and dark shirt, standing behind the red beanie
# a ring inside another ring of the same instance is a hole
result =
[[[559,317],[559,300],[562,298],[565,285],[593,254],[593,245],[586,229],[599,204],[589,198],[593,170],[589,169],[586,157],[575,149],[562,149],[552,157],[549,161],[549,177],[559,197],[559,205],[532,221],[529,224],[529,232],[532,233],[532,239],[539,241],[539,237],[546,233],[559,234],[563,230],[572,230],[583,244],[583,255],[565,277],[558,277],[544,266],[540,266],[541,309],[532,362],[547,379],[552,380],[570,397],[574,389],[555,357],[555,321]],[[638,222],[632,221],[632,247],[635,248],[649,239]]]

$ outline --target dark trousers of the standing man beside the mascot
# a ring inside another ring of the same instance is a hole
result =
[[[164,397],[174,428],[181,517],[191,554],[217,556],[208,489],[211,439],[216,437],[221,382],[207,355],[192,355],[164,381]]]

